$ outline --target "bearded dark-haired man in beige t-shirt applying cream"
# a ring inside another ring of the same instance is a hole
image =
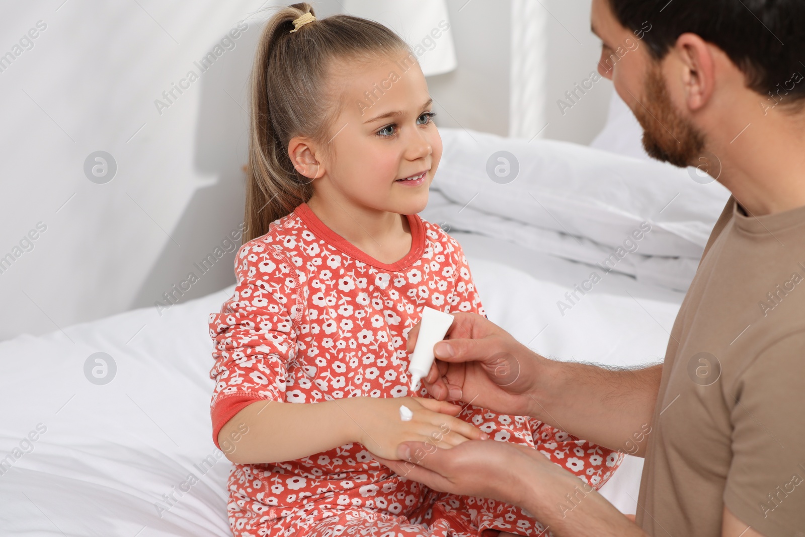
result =
[[[437,399],[534,416],[609,448],[638,444],[637,524],[511,444],[403,444],[416,465],[385,464],[522,506],[555,535],[805,536],[803,23],[802,0],[592,1],[599,71],[640,121],[646,151],[720,163],[708,171],[733,193],[662,366],[549,361],[468,314],[435,347],[426,385]],[[607,64],[634,35],[646,46]]]

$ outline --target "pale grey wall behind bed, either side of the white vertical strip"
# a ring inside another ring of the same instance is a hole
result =
[[[602,80],[565,114],[564,92],[596,70],[601,42],[590,31],[590,0],[529,0],[547,19],[547,84],[539,96],[548,123],[543,138],[588,144],[606,121],[612,84]],[[431,76],[437,124],[509,134],[510,2],[448,0],[458,68]],[[448,104],[449,103],[449,104]]]

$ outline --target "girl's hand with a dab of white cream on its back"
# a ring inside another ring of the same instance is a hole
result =
[[[355,424],[355,438],[373,455],[398,460],[397,447],[403,442],[424,442],[438,448],[452,448],[467,440],[489,436],[454,417],[461,407],[420,397],[353,397],[339,401]],[[414,414],[411,421],[400,419],[400,406]]]

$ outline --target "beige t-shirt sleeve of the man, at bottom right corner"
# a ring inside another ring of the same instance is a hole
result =
[[[762,535],[805,528],[805,332],[753,361],[731,393],[733,460],[724,502]],[[803,534],[805,535],[805,534]]]

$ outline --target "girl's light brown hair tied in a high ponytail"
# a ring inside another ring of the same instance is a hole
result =
[[[274,14],[254,57],[244,243],[268,233],[271,222],[312,196],[312,181],[295,170],[288,143],[300,135],[327,139],[341,110],[325,80],[332,60],[371,60],[399,52],[415,59],[393,31],[345,14],[312,21],[291,33],[293,21],[308,12],[314,14],[302,2]]]

